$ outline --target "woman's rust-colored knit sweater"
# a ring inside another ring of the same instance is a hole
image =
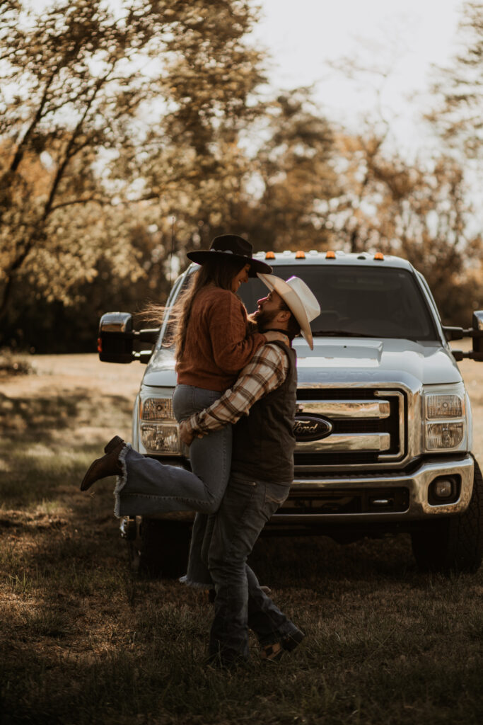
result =
[[[249,333],[243,302],[227,289],[203,287],[196,295],[186,331],[185,349],[177,361],[179,384],[205,390],[226,390],[266,343]]]

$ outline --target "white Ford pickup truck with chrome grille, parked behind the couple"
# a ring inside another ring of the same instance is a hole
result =
[[[456,360],[483,360],[483,311],[473,326],[444,327],[424,277],[382,254],[259,252],[274,274],[303,278],[319,299],[314,350],[298,355],[295,479],[266,534],[324,534],[338,542],[411,534],[423,570],[476,571],[483,553],[483,481],[471,453],[471,406]],[[197,265],[173,286],[167,310]],[[265,288],[240,288],[249,312]],[[471,352],[450,339],[471,336]],[[154,349],[133,352],[135,341]],[[189,468],[172,413],[174,350],[166,322],[133,331],[124,312],[103,315],[99,356],[148,363],[133,407],[133,446]],[[193,515],[126,518],[133,567],[184,573]]]

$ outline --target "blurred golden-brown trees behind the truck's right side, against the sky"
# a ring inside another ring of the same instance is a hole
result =
[[[461,164],[445,154],[405,161],[371,133],[337,141],[344,194],[329,218],[340,247],[406,257],[427,278],[445,320],[470,324],[471,309],[483,306],[483,239],[471,228]]]

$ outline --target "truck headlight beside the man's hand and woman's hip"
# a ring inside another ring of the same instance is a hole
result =
[[[180,455],[180,434],[171,398],[148,397],[139,403],[140,440],[148,453]]]

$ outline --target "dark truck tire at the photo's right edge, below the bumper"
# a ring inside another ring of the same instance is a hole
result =
[[[474,462],[473,493],[459,516],[430,521],[411,533],[413,555],[421,571],[474,573],[483,557],[483,478]]]

